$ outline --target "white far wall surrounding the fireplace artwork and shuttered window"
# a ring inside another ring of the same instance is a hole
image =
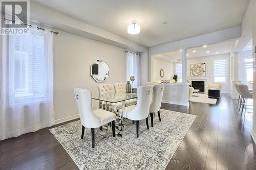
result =
[[[190,64],[206,63],[205,76],[209,77],[210,82],[214,82],[214,60],[227,60],[227,77],[226,83],[221,86],[221,92],[230,93],[230,54],[221,54],[214,56],[196,57],[187,59],[187,77],[190,77]]]

